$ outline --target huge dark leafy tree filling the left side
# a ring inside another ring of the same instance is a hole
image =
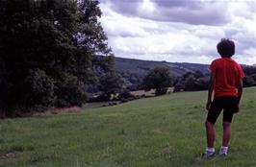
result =
[[[93,68],[112,68],[95,0],[0,1],[0,107],[80,106]]]

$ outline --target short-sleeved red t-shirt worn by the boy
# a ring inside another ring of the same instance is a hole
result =
[[[220,96],[237,96],[236,82],[243,79],[243,69],[231,58],[214,60],[209,69],[215,74],[215,98]]]

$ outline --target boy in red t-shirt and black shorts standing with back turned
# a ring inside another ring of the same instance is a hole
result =
[[[243,92],[243,70],[231,57],[235,54],[235,43],[232,40],[222,38],[217,45],[218,54],[221,58],[214,60],[209,70],[211,77],[208,90],[208,110],[205,122],[207,135],[207,148],[205,157],[215,155],[215,123],[223,109],[223,138],[219,155],[227,155],[228,143],[231,137],[231,121],[233,114],[239,111],[239,104]],[[236,90],[238,88],[238,91]],[[212,93],[214,91],[214,101]]]

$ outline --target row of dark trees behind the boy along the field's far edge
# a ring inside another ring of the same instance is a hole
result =
[[[256,85],[256,66],[243,65],[243,86]],[[148,71],[142,81],[145,90],[155,88],[156,95],[166,94],[167,87],[172,86],[173,92],[207,90],[210,73],[203,74],[201,71],[187,72],[181,77],[173,76],[165,67],[156,67]]]

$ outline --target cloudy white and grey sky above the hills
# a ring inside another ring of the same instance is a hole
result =
[[[221,38],[256,64],[256,0],[99,0],[115,57],[211,63]]]

